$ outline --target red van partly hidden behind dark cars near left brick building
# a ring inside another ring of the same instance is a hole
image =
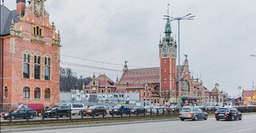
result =
[[[18,108],[28,107],[36,111],[36,116],[42,116],[42,111],[44,110],[44,105],[42,103],[22,103]]]

